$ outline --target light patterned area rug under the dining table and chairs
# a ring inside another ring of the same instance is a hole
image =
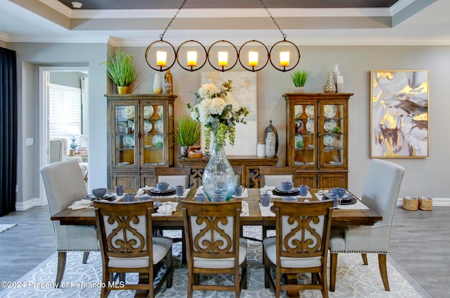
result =
[[[174,231],[166,231],[172,233]],[[259,227],[246,227],[244,235],[258,237]],[[174,235],[171,235],[174,236]],[[174,283],[172,288],[165,287],[156,297],[186,297],[187,269],[181,265],[181,244],[174,243]],[[241,297],[274,297],[271,289],[264,288],[264,266],[262,264],[261,242],[248,241],[248,289],[243,290]],[[360,254],[340,254],[338,257],[338,272],[335,292],[329,292],[329,297],[417,297],[429,298],[423,290],[395,261],[388,256],[387,272],[390,292],[385,292],[378,271],[378,258],[368,254],[368,266],[362,265]],[[0,297],[100,297],[101,290],[101,254],[89,255],[89,261],[82,264],[82,253],[69,252],[65,273],[60,288],[54,288],[57,254],[39,264],[15,283],[6,284],[8,288],[0,292]],[[127,274],[127,283],[137,283],[136,274]],[[221,280],[221,283],[231,283],[227,275],[219,277],[202,276],[200,283],[211,283]],[[309,280],[309,275],[299,275],[300,281]],[[2,287],[4,285],[2,284]],[[109,297],[134,297],[134,291],[113,291]],[[195,291],[194,297],[234,297],[230,292]],[[286,297],[283,292],[281,297]],[[321,297],[319,290],[300,291],[300,297]]]

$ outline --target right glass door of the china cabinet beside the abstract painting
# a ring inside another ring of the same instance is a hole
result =
[[[323,128],[321,128],[321,166],[342,166],[344,161],[343,104],[323,104]]]

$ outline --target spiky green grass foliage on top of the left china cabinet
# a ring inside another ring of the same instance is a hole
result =
[[[114,54],[108,52],[108,61],[103,63],[106,64],[108,77],[116,86],[128,87],[136,80],[138,74],[132,59],[133,56],[118,49]]]

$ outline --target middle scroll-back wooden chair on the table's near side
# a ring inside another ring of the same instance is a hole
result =
[[[234,291],[240,297],[240,289],[247,288],[247,240],[239,236],[240,201],[185,201],[182,211],[188,254],[187,297],[192,297],[194,290]],[[200,274],[231,274],[234,285],[200,284]]]

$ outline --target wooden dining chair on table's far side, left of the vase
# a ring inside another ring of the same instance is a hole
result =
[[[190,187],[190,178],[191,178],[191,168],[183,167],[183,168],[155,168],[155,177],[156,182],[169,182],[170,186],[175,187],[176,185],[184,185],[184,188]],[[162,236],[164,230],[179,230],[179,228],[172,229],[170,227],[160,228],[159,230],[155,230],[155,235]],[[181,237],[173,237],[172,240],[174,242],[181,242],[181,263],[186,264],[186,241],[184,240],[184,230],[181,229]]]

